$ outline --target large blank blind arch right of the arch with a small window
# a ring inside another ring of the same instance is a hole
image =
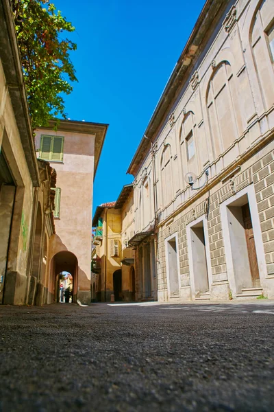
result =
[[[215,157],[227,150],[238,135],[234,113],[233,81],[229,62],[221,62],[208,85],[206,102]]]

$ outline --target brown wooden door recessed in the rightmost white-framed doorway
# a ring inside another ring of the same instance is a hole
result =
[[[247,240],[247,251],[249,255],[249,266],[254,287],[260,287],[260,275],[256,254],[255,240],[253,234],[252,220],[249,204],[242,206],[242,218],[244,220],[245,238]]]

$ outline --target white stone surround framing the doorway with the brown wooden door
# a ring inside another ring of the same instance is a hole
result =
[[[253,226],[253,234],[256,246],[256,254],[258,260],[258,268],[260,273],[260,281],[263,287],[264,279],[267,277],[267,270],[266,270],[266,260],[265,260],[265,253],[264,253],[264,244],[262,242],[262,231],[260,226],[260,218],[259,218],[259,211],[258,205],[256,201],[256,193],[254,189],[254,185],[249,185],[244,189],[240,190],[234,194],[234,196],[229,197],[226,201],[221,203],[220,205],[220,212],[221,212],[221,223],[223,227],[223,241],[225,247],[225,258],[227,263],[227,279],[229,282],[229,287],[232,290],[232,295],[236,295],[236,280],[235,280],[235,273],[233,267],[233,260],[232,260],[232,246],[230,242],[229,236],[229,223],[228,223],[228,216],[227,216],[227,206],[234,203],[234,201],[238,200],[242,196],[247,194],[247,198],[249,201],[249,209],[251,214],[252,226]]]

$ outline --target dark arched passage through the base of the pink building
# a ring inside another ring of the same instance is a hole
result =
[[[72,301],[75,303],[77,299],[77,277],[78,277],[78,261],[76,256],[69,251],[62,251],[56,253],[53,256],[53,277],[55,277],[55,293],[54,300],[60,301],[60,284],[62,284],[62,279],[60,279],[60,273],[68,272],[73,277],[72,288],[71,284],[68,286],[72,289]],[[64,284],[64,282],[63,282]]]

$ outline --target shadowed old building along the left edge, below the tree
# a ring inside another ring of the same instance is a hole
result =
[[[47,300],[55,170],[37,161],[8,0],[0,5],[0,304]]]

